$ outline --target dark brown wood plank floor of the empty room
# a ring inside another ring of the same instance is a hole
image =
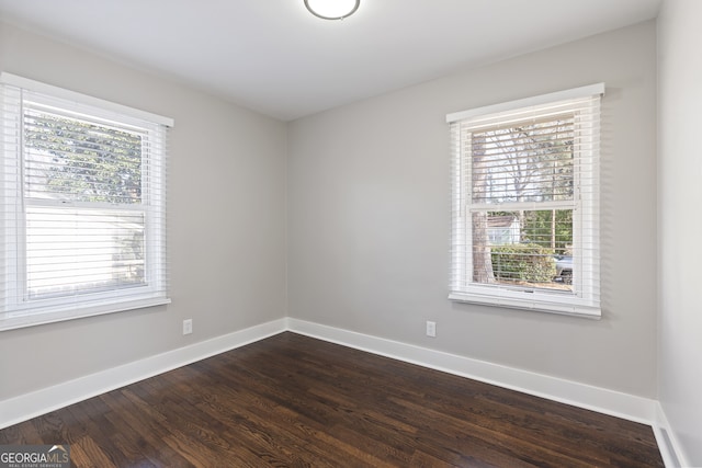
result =
[[[0,431],[75,467],[663,467],[652,429],[282,333]]]

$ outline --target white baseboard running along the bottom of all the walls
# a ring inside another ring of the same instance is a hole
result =
[[[648,424],[654,429],[666,467],[687,466],[663,407],[656,400],[292,318],[254,326],[0,401],[0,429],[283,331]]]

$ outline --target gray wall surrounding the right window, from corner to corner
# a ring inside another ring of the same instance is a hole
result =
[[[449,301],[445,114],[600,81],[602,320]],[[655,398],[655,135],[654,22],[293,122],[288,315]]]

